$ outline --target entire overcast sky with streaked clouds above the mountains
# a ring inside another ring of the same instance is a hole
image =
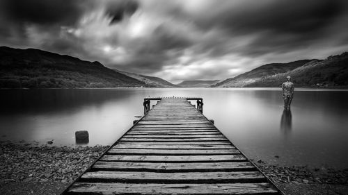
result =
[[[345,0],[1,0],[0,45],[174,83],[348,51]]]

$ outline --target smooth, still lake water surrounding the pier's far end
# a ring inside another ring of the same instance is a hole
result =
[[[278,88],[0,90],[0,139],[112,144],[143,115],[148,96],[200,96],[203,114],[249,158],[348,168],[348,91],[296,89],[291,112]],[[274,158],[279,155],[280,158]]]

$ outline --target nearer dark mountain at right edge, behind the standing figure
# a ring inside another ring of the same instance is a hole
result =
[[[277,87],[287,75],[297,87],[348,87],[348,52],[313,60],[292,71],[256,80],[247,87]]]

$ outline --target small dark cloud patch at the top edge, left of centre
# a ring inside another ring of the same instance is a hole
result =
[[[106,15],[111,17],[110,24],[120,22],[125,15],[132,15],[139,7],[139,3],[133,0],[110,0],[106,4]]]

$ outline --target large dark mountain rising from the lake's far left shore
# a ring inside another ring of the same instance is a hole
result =
[[[0,88],[148,87],[140,80],[72,56],[0,46]]]

